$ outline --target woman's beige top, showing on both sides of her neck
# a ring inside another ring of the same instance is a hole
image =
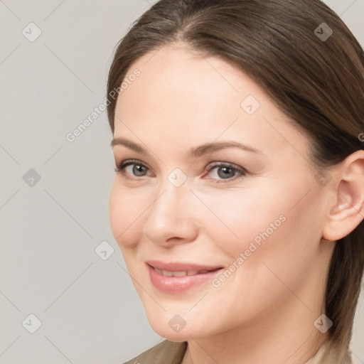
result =
[[[136,358],[127,361],[124,364],[181,364],[183,356],[186,353],[187,341],[175,343],[164,340],[158,345],[144,351]],[[305,364],[352,364],[350,350],[348,350],[341,360],[334,349],[328,348],[323,344],[314,357],[309,359]]]

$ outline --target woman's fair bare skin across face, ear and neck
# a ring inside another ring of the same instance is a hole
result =
[[[363,219],[363,154],[332,168],[321,186],[309,138],[235,66],[174,44],[139,58],[129,73],[136,68],[141,75],[117,100],[114,137],[149,154],[113,147],[117,166],[137,159],[146,170],[115,173],[109,218],[151,327],[168,340],[188,341],[183,364],[305,363],[328,338],[314,321],[324,313],[335,245],[329,240]],[[260,104],[251,115],[240,106],[248,95]],[[188,156],[191,147],[213,141],[249,144],[259,153],[229,148]],[[247,173],[224,183],[221,168],[205,170],[213,162]],[[179,187],[168,181],[175,168],[187,177]],[[166,294],[151,284],[146,260],[228,269],[280,215],[284,223],[220,287],[206,282]],[[176,314],[186,321],[179,333],[168,325]]]

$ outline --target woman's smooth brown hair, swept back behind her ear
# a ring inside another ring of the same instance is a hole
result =
[[[328,26],[322,25],[326,23]],[[333,32],[329,38],[330,30]],[[311,138],[311,160],[333,166],[363,149],[364,52],[319,0],[161,0],[114,53],[107,93],[132,63],[168,43],[223,58],[260,85]],[[114,132],[115,105],[107,113]],[[350,343],[364,268],[364,221],[336,243],[328,270],[326,316],[333,343]]]

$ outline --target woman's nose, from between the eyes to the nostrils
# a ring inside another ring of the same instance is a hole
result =
[[[146,210],[144,236],[155,244],[171,245],[193,242],[198,235],[197,209],[188,183],[176,187],[166,181]]]

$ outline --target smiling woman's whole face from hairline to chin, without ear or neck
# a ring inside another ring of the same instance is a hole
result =
[[[184,341],[320,308],[328,201],[309,139],[218,58],[169,45],[134,70],[109,217],[152,328]]]

